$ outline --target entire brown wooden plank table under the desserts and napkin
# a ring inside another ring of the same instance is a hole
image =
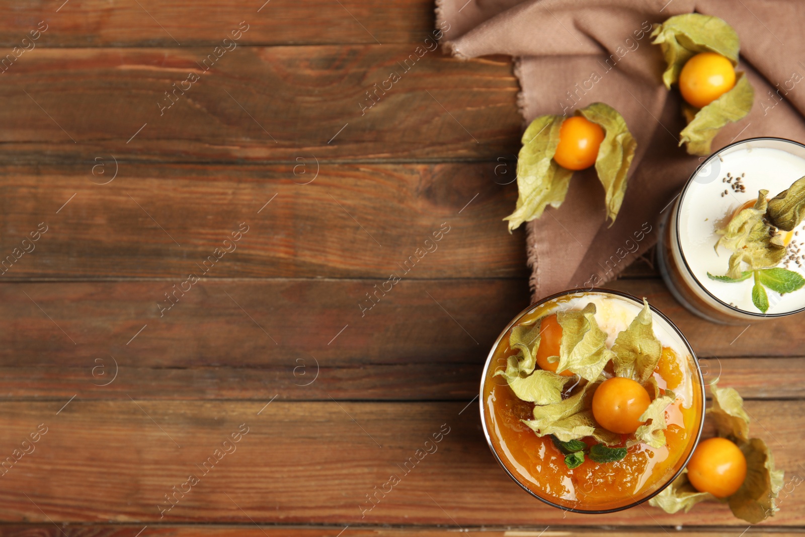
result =
[[[368,101],[431,0],[62,2],[0,29],[0,534],[745,531],[719,505],[565,514],[485,445],[481,365],[529,302],[509,58],[427,52]],[[786,470],[746,535],[805,530],[803,318],[708,324],[646,263],[612,287],[679,324]]]

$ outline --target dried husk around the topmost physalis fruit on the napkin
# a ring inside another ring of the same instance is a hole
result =
[[[663,82],[668,89],[679,81],[679,73],[700,52],[715,52],[725,56],[733,67],[738,64],[740,41],[733,27],[718,17],[698,13],[681,14],[654,27],[654,44],[663,50],[667,68]],[[691,155],[709,155],[712,139],[729,122],[737,122],[749,114],[754,101],[754,89],[743,72],[736,73],[733,89],[701,109],[683,105],[688,125],[679,134],[679,145],[686,144]]]

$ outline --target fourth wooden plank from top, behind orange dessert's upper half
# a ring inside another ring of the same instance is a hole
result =
[[[160,316],[173,283],[0,284],[0,318],[16,317],[0,332],[0,396],[319,399],[299,389],[316,378],[343,399],[469,400],[499,331],[528,304],[522,279],[402,281],[363,315],[373,280],[211,279]],[[657,280],[611,287],[666,312],[708,379],[749,399],[805,397],[797,317],[717,326],[680,308]],[[775,381],[780,370],[790,382]]]

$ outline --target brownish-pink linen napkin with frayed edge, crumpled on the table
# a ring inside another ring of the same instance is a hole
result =
[[[738,70],[754,86],[755,101],[746,118],[721,130],[714,150],[754,136],[805,142],[803,10],[800,0],[436,0],[436,27],[453,55],[514,56],[524,126],[601,101],[623,115],[638,141],[611,228],[594,169],[576,172],[559,209],[526,224],[534,299],[617,276],[654,245],[658,222],[704,160],[677,147],[685,126],[681,97],[663,86],[665,63],[651,44],[651,24],[696,11],[725,19],[740,36]]]

